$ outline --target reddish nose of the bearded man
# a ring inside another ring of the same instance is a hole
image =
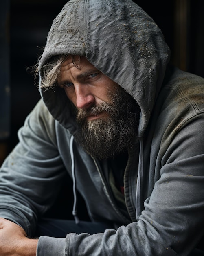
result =
[[[88,85],[75,85],[75,94],[77,108],[88,108],[95,101],[95,97],[92,94],[91,88],[89,88]]]

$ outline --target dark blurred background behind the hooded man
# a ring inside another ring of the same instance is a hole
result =
[[[53,19],[66,0],[0,2],[0,164],[18,143],[17,131],[39,100],[33,76]],[[158,24],[171,63],[204,77],[204,1],[135,0]]]

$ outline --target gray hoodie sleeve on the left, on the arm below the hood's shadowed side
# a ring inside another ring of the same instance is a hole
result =
[[[20,142],[0,169],[0,216],[31,236],[37,216],[54,202],[65,175],[56,146],[55,121],[42,100],[26,118],[18,137]]]

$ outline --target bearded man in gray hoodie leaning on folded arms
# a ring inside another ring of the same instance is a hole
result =
[[[42,99],[1,168],[1,255],[202,255],[204,79],[169,54],[131,0],[64,6],[39,61]],[[66,172],[76,225],[41,219]]]

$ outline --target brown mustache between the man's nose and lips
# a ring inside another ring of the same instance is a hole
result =
[[[99,115],[101,112],[108,112],[109,114],[113,115],[115,110],[113,105],[108,103],[101,103],[99,105],[93,105],[87,109],[79,109],[77,112],[76,120],[81,122],[85,120],[89,115]]]

